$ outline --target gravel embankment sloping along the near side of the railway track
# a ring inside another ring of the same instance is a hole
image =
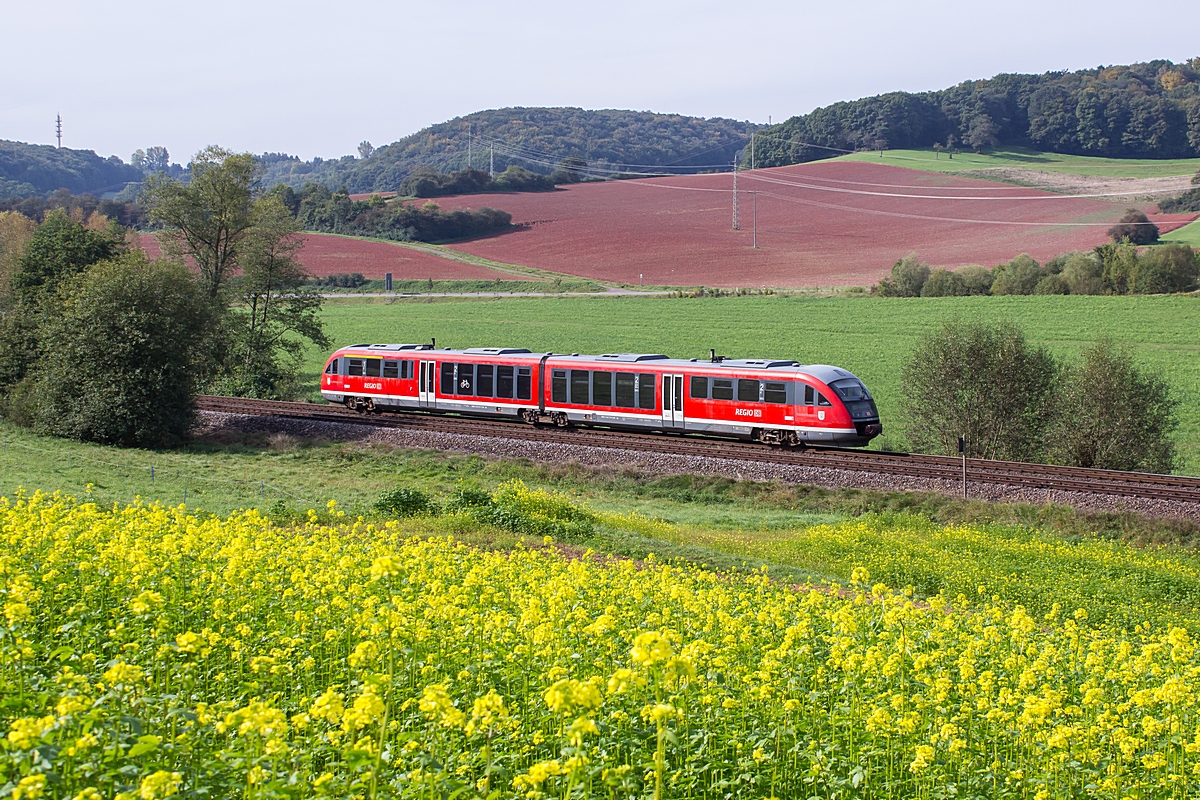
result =
[[[338,441],[361,441],[362,444],[385,444],[394,447],[473,453],[492,458],[528,458],[530,461],[548,463],[576,462],[586,467],[630,467],[647,474],[656,475],[720,475],[737,480],[780,481],[792,485],[821,486],[830,489],[851,487],[880,492],[937,492],[954,497],[959,497],[962,492],[962,485],[958,481],[906,477],[901,475],[877,475],[847,469],[791,467],[787,464],[745,462],[728,458],[677,456],[672,453],[653,453],[640,450],[619,450],[584,445],[558,445],[461,433],[373,428],[365,425],[251,416],[245,414],[222,414],[216,411],[202,411],[199,414],[199,433],[202,435],[218,434],[221,432],[282,433],[304,439],[319,438]],[[1174,500],[1086,494],[1081,492],[1034,489],[992,483],[970,483],[970,476],[968,492],[974,499],[991,501],[1030,503],[1036,505],[1055,503],[1094,511],[1133,511],[1156,517],[1200,519],[1200,505]]]

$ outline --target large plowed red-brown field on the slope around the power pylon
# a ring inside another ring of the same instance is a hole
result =
[[[742,173],[742,229],[734,231],[731,188],[728,174],[689,175],[436,201],[504,209],[521,224],[455,245],[468,253],[600,281],[637,283],[642,275],[647,284],[716,287],[871,283],[913,252],[940,266],[992,266],[1020,253],[1044,260],[1106,241],[1108,227],[1129,207],[883,164],[823,162]],[[758,192],[758,249],[751,248],[749,191]]]

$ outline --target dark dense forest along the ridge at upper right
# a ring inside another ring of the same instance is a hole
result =
[[[942,91],[834,103],[758,131],[754,158],[758,167],[779,167],[846,150],[935,145],[1025,145],[1120,158],[1200,156],[1200,58],[1000,74]]]

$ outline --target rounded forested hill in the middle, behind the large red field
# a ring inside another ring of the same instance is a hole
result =
[[[670,169],[697,172],[732,163],[755,130],[750,122],[649,112],[582,108],[502,108],[430,126],[382,146],[365,158],[301,162],[265,154],[266,182],[300,187],[316,181],[350,192],[395,191],[409,174],[450,172],[470,164],[496,170],[509,164],[551,173],[566,157],[584,158],[600,172]]]

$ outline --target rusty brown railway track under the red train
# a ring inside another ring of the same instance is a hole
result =
[[[962,461],[946,456],[924,456],[875,450],[839,450],[833,447],[785,450],[732,439],[712,439],[664,433],[596,431],[589,428],[532,427],[523,422],[479,420],[421,413],[359,414],[341,405],[235,397],[202,396],[198,398],[197,405],[203,411],[220,411],[226,414],[276,416],[404,428],[409,431],[532,440],[562,445],[791,464],[796,467],[841,469],[952,482],[962,480]],[[1200,504],[1200,477],[1050,467],[1046,464],[1025,464],[1021,462],[986,461],[982,458],[968,458],[966,471],[968,483],[992,483]]]

